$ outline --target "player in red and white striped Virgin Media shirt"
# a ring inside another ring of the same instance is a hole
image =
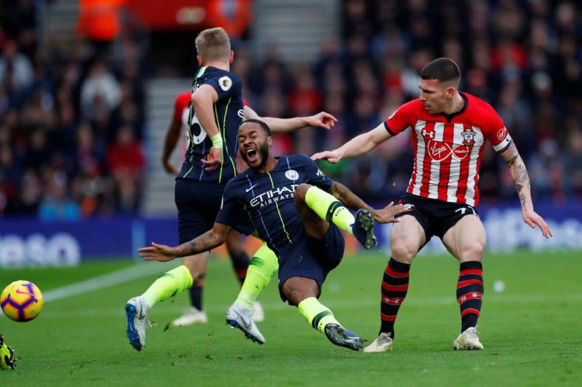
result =
[[[412,208],[392,228],[392,256],[382,279],[380,333],[364,352],[392,349],[394,322],[406,297],[410,263],[433,235],[460,261],[457,301],[462,327],[453,349],[483,348],[475,328],[483,294],[485,228],[475,207],[485,142],[491,142],[508,164],[523,220],[532,228],[540,227],[546,238],[552,236],[544,219],[534,212],[526,166],[503,121],[488,103],[459,91],[457,64],[448,58],[435,59],[424,67],[420,78],[418,99],[400,106],[375,129],[312,157],[337,163],[370,152],[408,127],[413,130],[414,169],[402,196],[402,203]]]

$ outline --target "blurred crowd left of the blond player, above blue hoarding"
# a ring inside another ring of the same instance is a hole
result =
[[[144,155],[143,59],[59,44],[32,0],[0,7],[0,216],[76,220],[139,209]],[[46,38],[40,44],[40,38]]]

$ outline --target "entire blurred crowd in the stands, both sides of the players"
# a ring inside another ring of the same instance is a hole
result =
[[[576,4],[344,0],[341,33],[325,40],[313,63],[285,63],[276,46],[258,60],[239,41],[232,71],[263,116],[326,110],[339,119],[331,131],[274,140],[275,153],[311,155],[376,127],[417,98],[418,71],[447,56],[462,71],[460,89],[491,103],[505,121],[526,160],[534,199],[582,199],[582,13]],[[33,0],[2,1],[0,216],[73,220],[136,212],[145,164],[144,50],[129,37],[107,52],[51,37],[41,45],[38,28]],[[404,192],[412,164],[407,131],[369,155],[321,166],[362,198],[386,200]],[[515,196],[491,147],[480,189],[485,201]]]

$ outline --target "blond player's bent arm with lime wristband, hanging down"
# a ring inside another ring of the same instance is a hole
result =
[[[212,148],[208,151],[206,160],[201,160],[207,164],[207,171],[217,169],[222,162],[222,137],[214,120],[214,102],[218,101],[218,93],[211,85],[200,86],[192,94],[192,105],[194,112],[202,130],[206,131],[212,140]]]

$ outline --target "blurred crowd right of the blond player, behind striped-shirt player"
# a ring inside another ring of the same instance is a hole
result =
[[[262,63],[237,52],[247,98],[272,116],[335,114],[332,131],[277,141],[282,153],[333,149],[376,127],[418,97],[418,72],[439,56],[455,60],[462,91],[491,103],[530,171],[537,200],[582,199],[582,15],[574,1],[345,0],[342,34],[317,62],[288,66],[275,47]],[[396,198],[407,187],[410,130],[377,152],[322,169],[363,198]],[[501,177],[501,181],[500,181]],[[508,169],[487,148],[484,200],[515,198]]]

